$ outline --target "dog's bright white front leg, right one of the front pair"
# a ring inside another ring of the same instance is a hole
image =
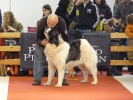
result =
[[[62,86],[64,71],[65,71],[65,65],[58,66],[58,83],[57,83],[57,85],[55,85],[55,87],[61,87]]]

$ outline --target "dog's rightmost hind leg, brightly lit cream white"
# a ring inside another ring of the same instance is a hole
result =
[[[89,67],[87,66],[88,70],[90,71],[90,73],[93,76],[93,82],[91,84],[96,85],[98,83],[98,79],[97,79],[97,67],[96,64],[94,63],[89,63]]]

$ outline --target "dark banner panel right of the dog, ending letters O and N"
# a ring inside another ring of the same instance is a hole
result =
[[[110,69],[110,34],[88,33],[83,36],[97,52],[98,70]]]

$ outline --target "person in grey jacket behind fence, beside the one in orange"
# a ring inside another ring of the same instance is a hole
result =
[[[132,0],[123,0],[120,3],[118,3],[117,7],[114,10],[113,17],[116,19],[121,20],[121,31],[120,32],[125,32],[126,28],[126,17],[129,14],[133,13],[133,1]],[[122,39],[123,45],[126,45],[127,39]],[[127,52],[121,52],[119,53],[119,59],[128,59],[127,58]],[[118,71],[122,71],[122,67],[118,67]],[[129,71],[130,67],[128,67]]]

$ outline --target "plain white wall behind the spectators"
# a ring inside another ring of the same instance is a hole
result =
[[[115,0],[106,1],[113,9]],[[42,17],[42,6],[44,4],[50,4],[54,13],[58,2],[59,0],[11,0],[11,11],[17,21],[24,26],[23,32],[27,32],[27,27],[36,26],[37,21]],[[10,9],[10,0],[0,0],[0,8],[3,15],[5,11]]]

